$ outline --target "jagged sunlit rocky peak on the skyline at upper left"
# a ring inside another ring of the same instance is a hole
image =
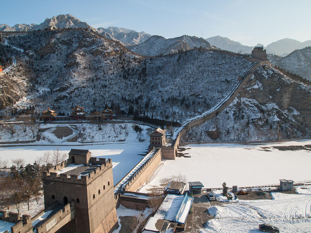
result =
[[[67,15],[58,15],[52,18],[46,18],[45,21],[39,25],[37,24],[16,24],[10,27],[5,24],[0,25],[0,31],[34,31],[44,29],[57,29],[57,28],[92,28],[86,22],[82,22],[76,17]],[[93,29],[93,28],[92,28]],[[93,29],[95,30],[95,29]]]

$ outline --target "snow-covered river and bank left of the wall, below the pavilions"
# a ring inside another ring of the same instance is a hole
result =
[[[54,127],[57,124],[40,124],[40,128]],[[66,124],[60,125],[68,126]],[[53,129],[43,132],[42,134],[53,139],[55,144],[48,140],[40,140],[32,144],[12,147],[0,147],[0,160],[7,160],[7,166],[12,165],[12,160],[16,158],[23,158],[25,165],[34,163],[39,157],[43,156],[46,151],[53,153],[54,150],[59,148],[63,153],[68,154],[72,148],[87,149],[90,150],[93,157],[111,158],[113,164],[114,184],[118,183],[139,161],[144,158],[148,151],[149,136],[147,128],[148,126],[142,126],[142,138],[147,139],[144,142],[139,142],[137,139],[137,133],[133,129],[133,124],[103,124],[102,129],[98,130],[97,125],[94,124],[79,124],[78,130],[81,131],[81,135],[92,135],[90,138],[95,142],[90,143],[61,143],[64,138],[57,138],[53,134]],[[0,131],[1,141],[16,141],[33,139],[31,131],[27,128],[24,133],[22,126],[14,126],[16,133],[13,137],[8,134],[7,131]],[[68,126],[70,127],[70,126]],[[113,130],[115,128],[115,131]],[[73,131],[73,134],[76,134]],[[67,138],[69,138],[68,136]],[[122,142],[116,142],[115,140],[123,139]],[[104,144],[99,144],[99,143]],[[42,145],[44,144],[44,145]],[[58,146],[62,144],[62,146]],[[67,157],[68,158],[68,157]]]

